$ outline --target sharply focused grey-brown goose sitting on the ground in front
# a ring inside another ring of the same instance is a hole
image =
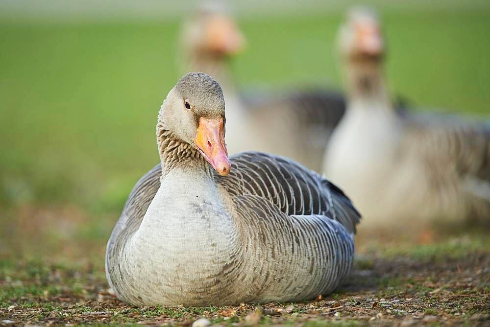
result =
[[[158,115],[161,167],[149,172],[158,191],[157,178],[136,184],[107,243],[106,276],[120,300],[299,301],[331,292],[349,272],[360,217],[343,192],[283,157],[228,159],[224,130],[218,82],[183,76]]]

